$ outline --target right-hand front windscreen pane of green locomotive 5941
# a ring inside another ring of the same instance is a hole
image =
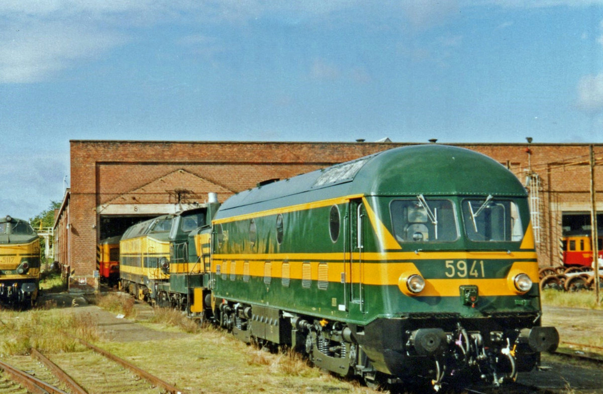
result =
[[[472,241],[517,242],[523,238],[519,208],[511,200],[467,199],[462,203],[467,237]]]

